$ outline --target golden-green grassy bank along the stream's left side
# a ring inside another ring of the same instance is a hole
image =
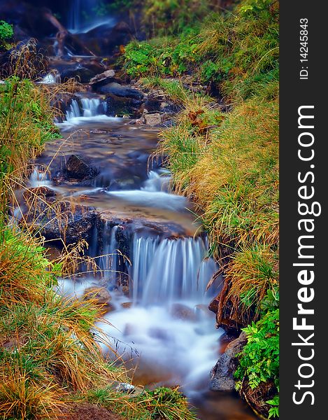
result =
[[[59,137],[52,94],[18,73],[0,85],[0,418],[74,419],[83,405],[96,414],[103,407],[112,420],[195,419],[178,389],[141,388],[136,396],[117,389],[131,379],[101,352],[104,335],[95,323],[103,308],[92,297],[55,293],[57,279],[73,274],[67,259],[50,262],[33,223],[11,218],[14,190],[26,190],[31,160]]]

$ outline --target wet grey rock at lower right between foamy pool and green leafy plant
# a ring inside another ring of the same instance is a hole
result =
[[[234,372],[238,365],[236,355],[241,352],[247,343],[245,332],[227,345],[218,363],[213,367],[210,382],[211,391],[233,391],[235,387]]]

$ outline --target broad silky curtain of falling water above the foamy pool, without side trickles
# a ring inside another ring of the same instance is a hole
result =
[[[211,297],[206,285],[218,267],[203,237],[143,238],[135,235],[131,278],[134,302],[170,304],[174,300],[203,303]]]

